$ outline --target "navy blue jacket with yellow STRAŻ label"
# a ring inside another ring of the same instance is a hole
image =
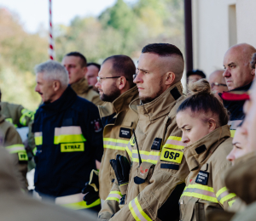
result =
[[[68,86],[35,115],[35,190],[54,197],[80,193],[102,160],[102,122],[96,105]]]

